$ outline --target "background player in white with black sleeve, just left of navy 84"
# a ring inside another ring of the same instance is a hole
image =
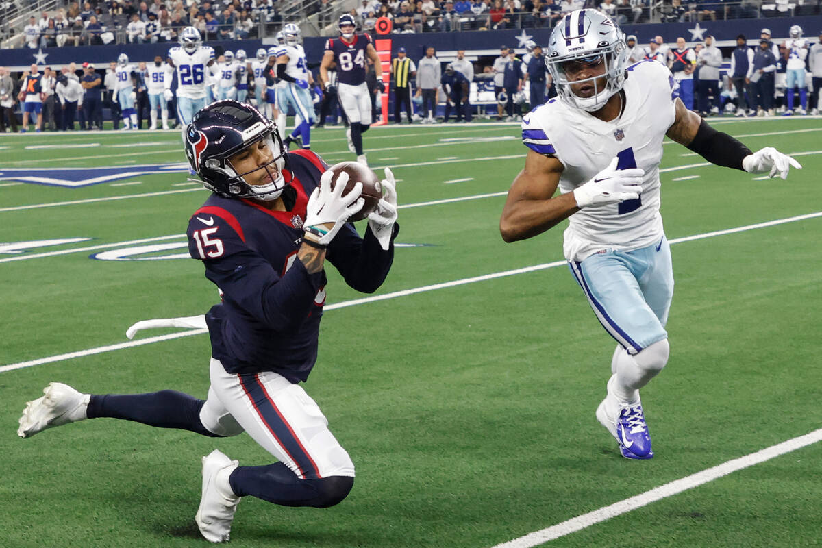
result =
[[[314,104],[308,86],[314,84],[311,71],[308,70],[306,54],[302,49],[300,29],[289,23],[283,27],[285,44],[277,49],[277,78],[282,84],[280,116],[289,112],[289,105],[294,110],[294,130],[286,136],[284,144],[302,140],[302,148],[311,148],[311,127],[314,123]]]

